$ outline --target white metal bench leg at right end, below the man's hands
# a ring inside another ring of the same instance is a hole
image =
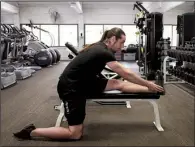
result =
[[[156,126],[158,131],[164,131],[160,123],[160,114],[159,114],[158,104],[154,100],[151,100],[150,103],[152,104],[154,108],[154,117],[155,117],[154,125]]]

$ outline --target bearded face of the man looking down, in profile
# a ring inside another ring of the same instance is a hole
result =
[[[125,40],[126,40],[126,36],[125,35],[121,35],[121,38],[119,38],[118,40],[116,40],[116,37],[113,36],[111,38],[112,50],[117,52],[117,51],[120,51],[122,48],[124,48]]]

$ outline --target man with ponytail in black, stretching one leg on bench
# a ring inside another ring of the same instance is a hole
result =
[[[116,61],[113,53],[124,47],[125,40],[125,33],[120,28],[105,31],[99,42],[84,48],[61,74],[57,90],[60,99],[64,102],[68,128],[36,128],[31,124],[20,132],[14,133],[14,136],[21,139],[48,137],[79,140],[83,134],[86,98],[90,95],[98,95],[108,90],[163,92],[162,87],[140,78]],[[105,65],[126,82],[102,78],[101,71]]]

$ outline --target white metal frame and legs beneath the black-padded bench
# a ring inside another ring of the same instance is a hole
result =
[[[112,102],[112,101],[126,101],[127,103],[127,108],[131,108],[130,105],[130,100],[131,101],[142,101],[142,102],[149,102],[152,106],[153,106],[153,111],[154,111],[154,125],[156,126],[156,129],[158,131],[164,131],[163,127],[161,126],[161,121],[160,121],[160,114],[159,114],[159,108],[158,108],[158,104],[157,104],[157,100],[156,99],[88,99],[88,101],[104,101],[104,102]],[[64,116],[64,103],[62,102],[59,106],[54,106],[55,110],[60,111],[57,120],[56,120],[56,127],[59,127],[62,123],[62,121],[66,121],[66,117]]]

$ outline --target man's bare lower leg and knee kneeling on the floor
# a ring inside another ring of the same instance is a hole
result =
[[[83,125],[50,128],[37,128],[31,132],[32,137],[47,137],[50,139],[80,139],[83,132]]]

